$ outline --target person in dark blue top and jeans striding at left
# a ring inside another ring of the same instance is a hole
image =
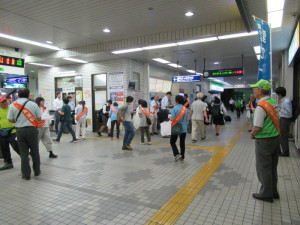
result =
[[[73,140],[71,142],[76,143],[78,139],[76,138],[75,133],[72,129],[71,107],[68,105],[69,100],[65,98],[63,102],[64,102],[63,107],[61,108],[61,110],[58,110],[58,113],[61,115],[60,117],[61,127],[59,129],[57,138],[54,139],[53,141],[56,143],[60,143],[61,135],[64,129],[67,128],[73,137]]]

